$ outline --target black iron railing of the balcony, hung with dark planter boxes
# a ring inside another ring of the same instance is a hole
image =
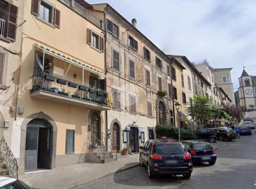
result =
[[[56,77],[46,72],[39,72],[32,75],[30,79],[30,93],[41,90],[105,106],[107,105],[107,92],[104,90],[80,85],[79,83]]]

